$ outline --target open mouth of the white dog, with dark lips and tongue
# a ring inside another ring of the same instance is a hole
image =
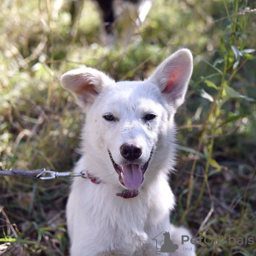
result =
[[[110,151],[108,151],[108,154],[110,156],[110,160],[113,163],[113,168],[115,172],[119,174],[119,182],[122,183],[127,189],[137,189],[143,183],[144,173],[148,169],[148,164],[151,160],[152,151],[150,153],[148,161],[143,165],[130,164],[119,166],[113,160]]]

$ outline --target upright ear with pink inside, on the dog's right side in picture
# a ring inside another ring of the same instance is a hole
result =
[[[180,49],[163,61],[148,81],[157,84],[167,102],[177,109],[184,101],[192,70],[191,52]]]

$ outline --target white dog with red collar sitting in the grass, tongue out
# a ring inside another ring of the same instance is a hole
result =
[[[74,178],[67,202],[71,255],[195,255],[194,245],[182,242],[189,231],[169,222],[175,199],[168,184],[173,118],[192,69],[189,49],[181,49],[144,81],[116,83],[92,68],[61,77],[86,113],[74,172],[87,178]],[[175,252],[156,243],[163,232]]]

